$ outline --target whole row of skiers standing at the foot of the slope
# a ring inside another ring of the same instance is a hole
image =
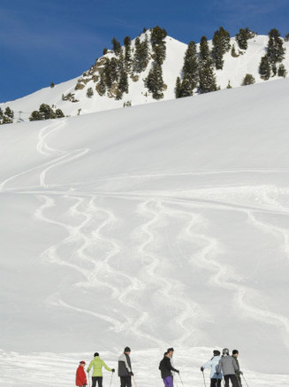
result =
[[[179,374],[179,369],[173,368],[171,364],[171,357],[173,355],[173,348],[168,348],[164,352],[164,359],[159,364],[159,370],[161,371],[161,377],[164,381],[164,387],[173,387],[173,372]],[[130,359],[131,349],[126,346],[125,351],[118,358],[118,376],[120,377],[120,387],[132,387],[133,369]],[[224,387],[229,387],[229,381],[232,383],[232,387],[241,387],[240,375],[243,375],[240,370],[238,361],[239,351],[233,350],[232,356],[230,356],[229,350],[224,348],[221,356],[221,352],[218,350],[213,351],[213,357],[202,365],[201,371],[205,368],[210,368],[210,387],[221,387],[221,381],[224,376]],[[78,387],[85,387],[87,385],[87,375],[84,367],[85,361],[80,361],[80,366],[76,371],[75,384]],[[115,372],[114,368],[109,368],[104,361],[99,357],[99,353],[95,352],[94,360],[90,361],[87,368],[87,373],[93,368],[92,374],[92,387],[103,387],[103,372],[102,368],[106,368],[110,372]],[[112,377],[112,375],[111,375]],[[204,376],[203,376],[204,377]],[[205,380],[205,379],[204,379]]]

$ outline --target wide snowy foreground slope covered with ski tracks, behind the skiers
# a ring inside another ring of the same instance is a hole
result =
[[[187,386],[224,346],[288,383],[288,86],[1,128],[1,385],[125,345],[140,386],[171,345]]]

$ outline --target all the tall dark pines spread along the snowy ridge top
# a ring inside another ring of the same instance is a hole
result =
[[[144,29],[143,32],[147,32]],[[222,70],[224,66],[224,54],[231,50],[233,58],[239,57],[244,50],[247,50],[247,42],[254,38],[255,32],[248,27],[241,28],[236,34],[236,46],[231,45],[231,37],[224,27],[219,27],[212,39],[211,50],[206,36],[202,36],[200,50],[197,52],[197,45],[193,41],[187,46],[184,66],[180,76],[177,78],[175,94],[176,97],[189,97],[194,92],[208,93],[215,91],[218,88],[215,70]],[[139,80],[139,74],[146,70],[149,61],[151,67],[145,78],[144,84],[151,93],[154,99],[164,97],[164,89],[166,85],[163,80],[164,59],[166,55],[165,37],[167,33],[161,27],[151,28],[147,34],[138,36],[135,39],[134,46],[129,36],[124,39],[122,47],[118,40],[112,39],[112,50],[103,50],[103,54],[113,53],[114,56],[105,55],[104,62],[101,58],[100,62],[96,61],[95,66],[92,66],[89,74],[92,74],[95,69],[98,71],[98,76],[93,76],[91,79],[96,81],[96,91],[103,96],[108,94],[110,97],[121,99],[124,93],[128,93],[128,77],[133,81]],[[285,76],[285,66],[281,64],[285,48],[283,41],[280,38],[278,30],[272,29],[269,33],[269,43],[265,56],[261,60],[259,73],[262,79],[267,80],[270,76],[278,74]],[[288,35],[289,40],[289,35]],[[238,51],[237,51],[238,50]],[[98,66],[98,63],[101,66]],[[252,84],[255,78],[252,74],[246,74],[241,85]],[[230,88],[230,82],[227,86]],[[94,89],[87,89],[87,97],[94,96]]]

